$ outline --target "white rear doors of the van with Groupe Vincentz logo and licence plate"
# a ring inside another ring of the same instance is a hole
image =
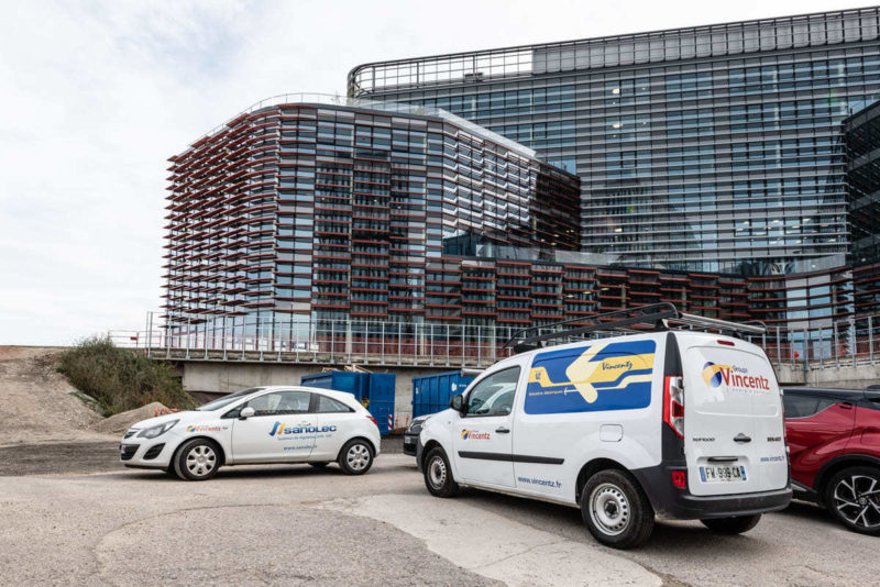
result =
[[[779,384],[763,351],[738,339],[676,333],[684,452],[695,496],[769,491],[789,478]]]

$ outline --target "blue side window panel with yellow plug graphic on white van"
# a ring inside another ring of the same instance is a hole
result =
[[[526,413],[634,410],[651,403],[654,341],[624,341],[535,355]]]

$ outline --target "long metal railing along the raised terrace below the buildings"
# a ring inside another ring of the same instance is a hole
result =
[[[111,340],[120,346],[144,350],[154,358],[176,361],[484,367],[512,354],[504,344],[519,330],[299,317],[227,317],[165,329],[154,320],[154,312],[148,312],[145,330],[111,331]],[[541,333],[552,331],[548,326]],[[619,333],[595,333],[593,337],[612,334]],[[826,326],[771,326],[766,334],[746,339],[762,346],[777,365],[813,369],[875,364],[880,359],[880,315]]]

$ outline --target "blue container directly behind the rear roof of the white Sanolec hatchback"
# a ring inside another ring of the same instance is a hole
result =
[[[388,373],[329,370],[304,375],[301,385],[351,394],[376,419],[378,431],[384,435],[391,432],[388,417],[394,416],[395,380],[396,377]]]

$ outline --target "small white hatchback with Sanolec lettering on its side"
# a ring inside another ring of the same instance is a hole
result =
[[[256,387],[138,422],[119,447],[127,467],[164,469],[186,480],[222,465],[336,461],[362,475],[380,453],[375,419],[351,394],[309,387]]]

